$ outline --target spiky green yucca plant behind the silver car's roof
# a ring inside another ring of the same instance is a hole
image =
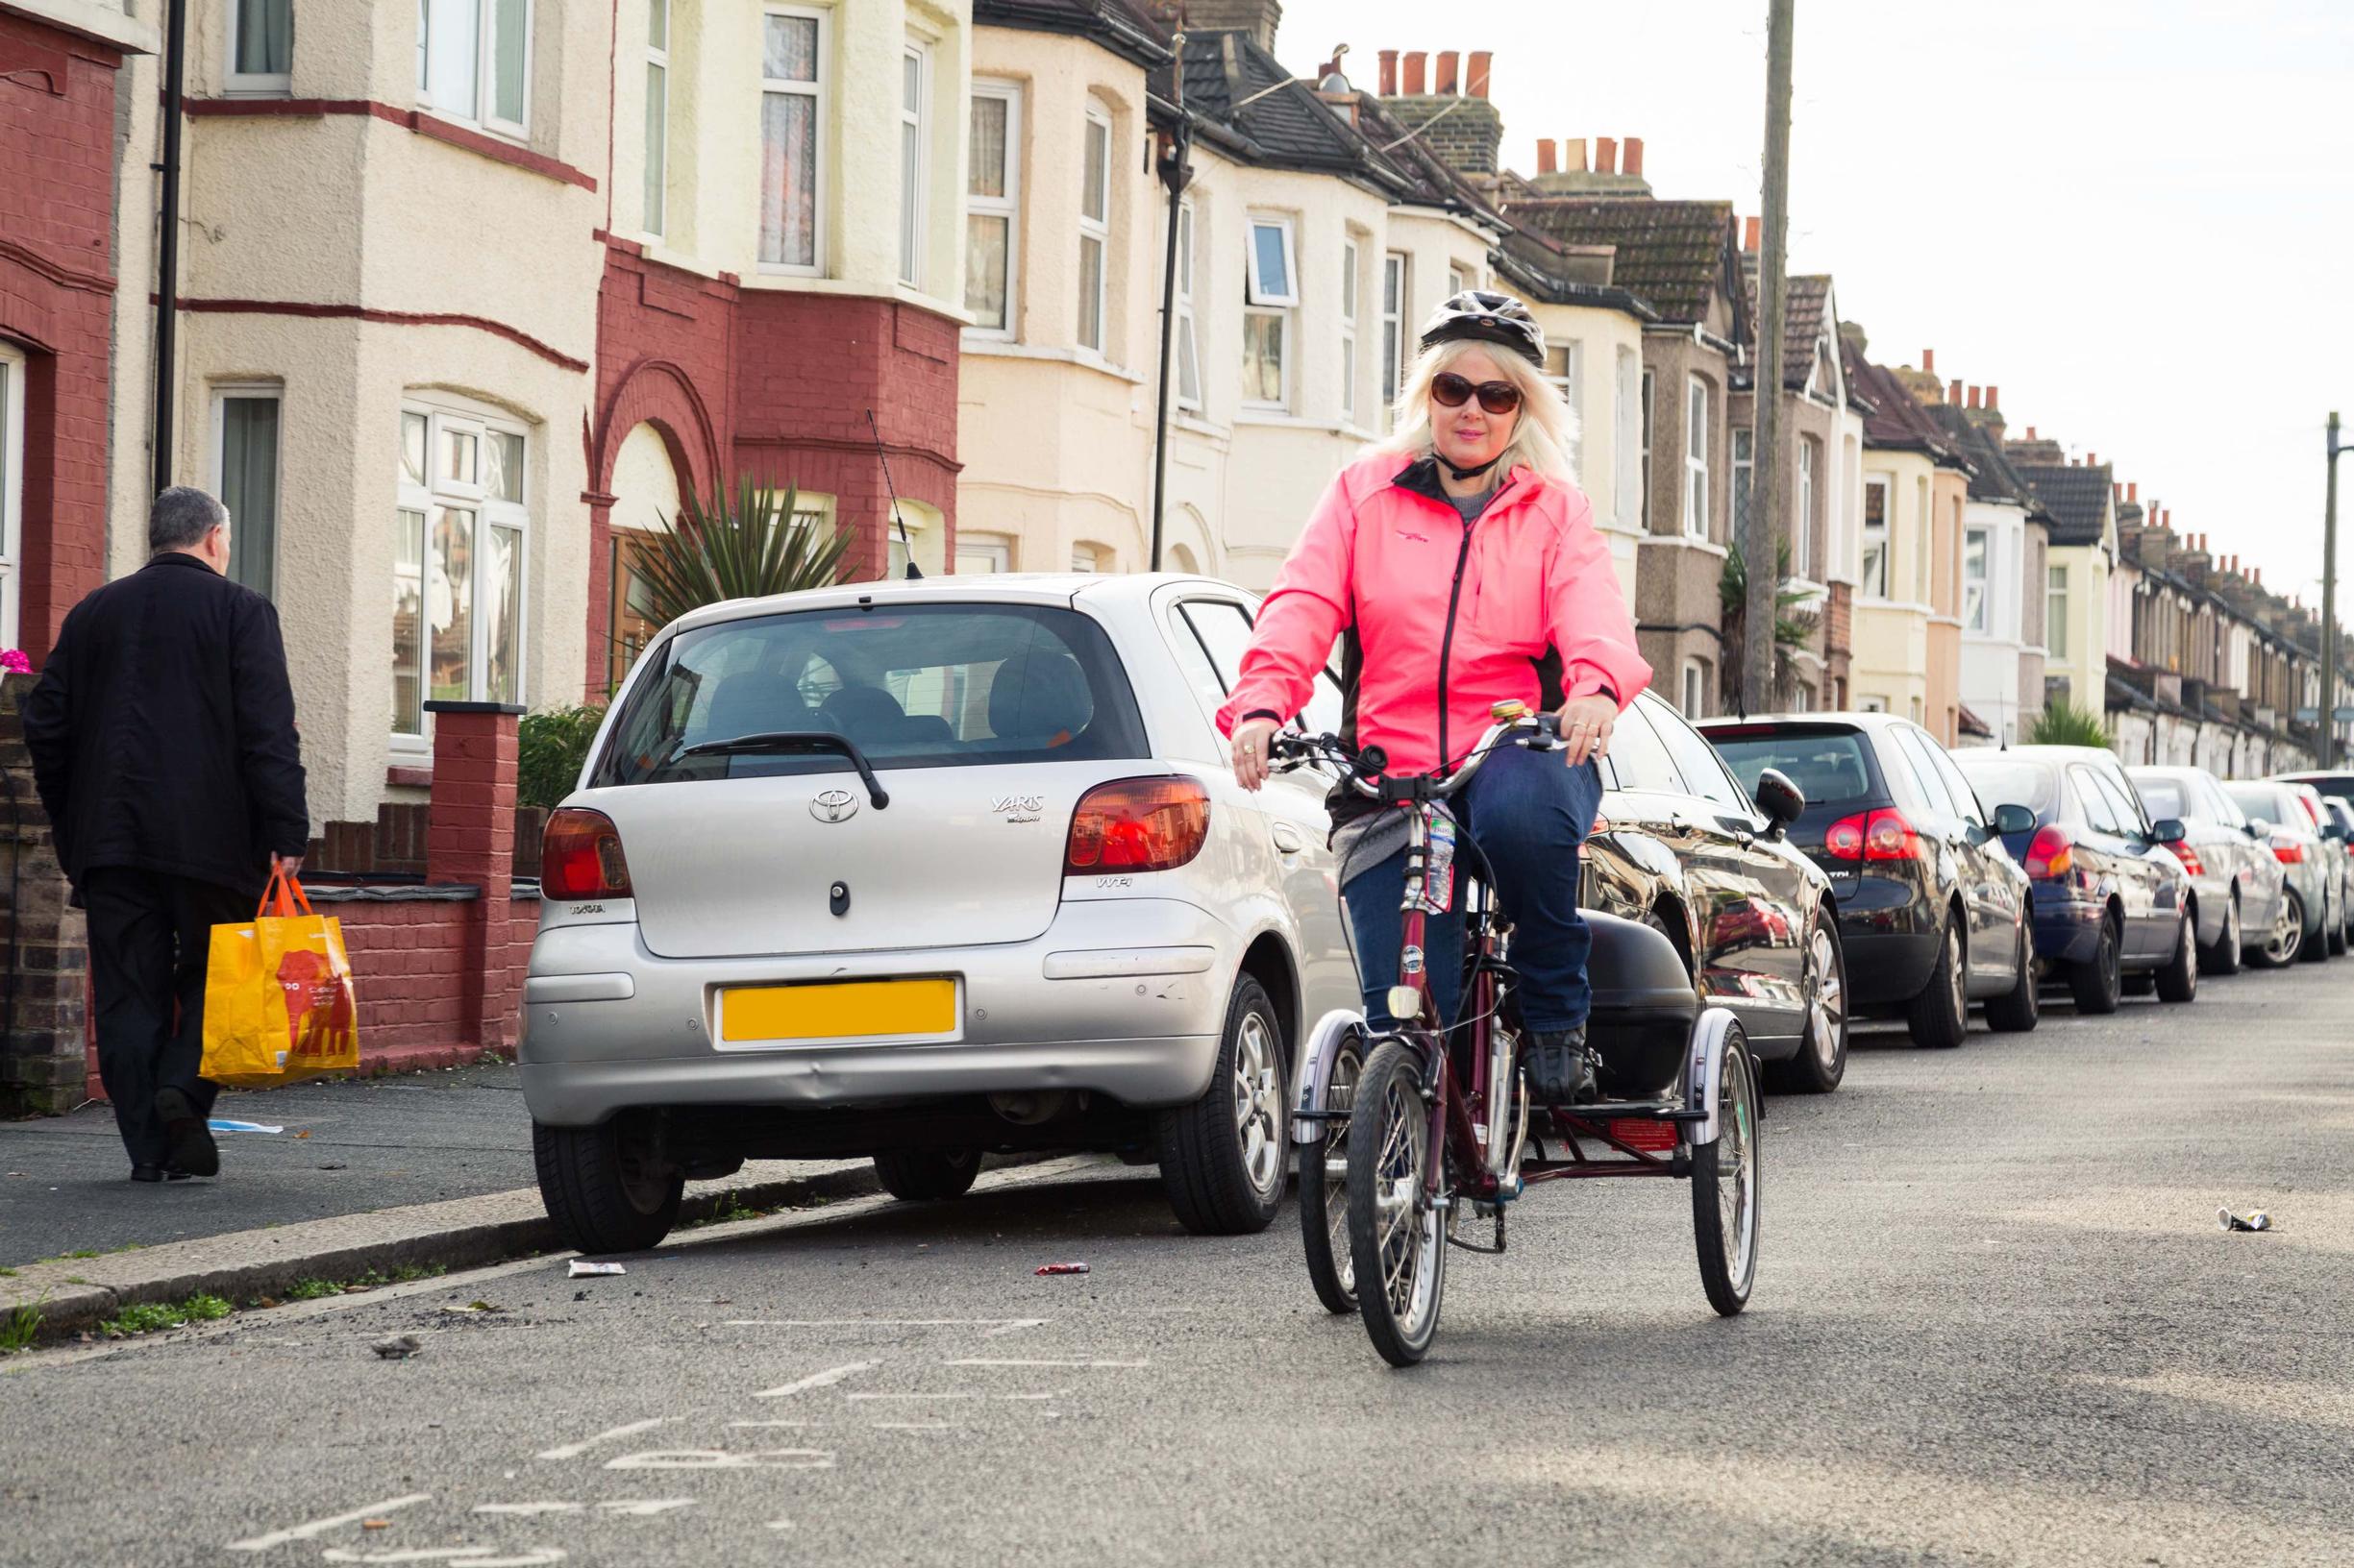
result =
[[[840,582],[843,556],[857,534],[796,523],[800,487],[737,480],[730,499],[680,497],[678,516],[638,546],[636,572],[645,584],[645,614],[676,622],[727,598],[760,598]]]

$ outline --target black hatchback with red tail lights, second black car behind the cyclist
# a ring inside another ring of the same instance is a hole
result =
[[[1902,1012],[1921,1045],[1987,1026],[2036,1026],[2027,873],[1944,746],[1893,713],[1714,718],[1700,725],[1742,779],[1775,768],[1806,793],[1791,843],[1829,873],[1857,1010]]]

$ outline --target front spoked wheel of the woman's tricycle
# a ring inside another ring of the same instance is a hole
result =
[[[1436,1158],[1422,1062],[1387,1041],[1365,1062],[1349,1116],[1349,1262],[1365,1337],[1389,1366],[1415,1366],[1438,1335],[1448,1227],[1422,1198]]]

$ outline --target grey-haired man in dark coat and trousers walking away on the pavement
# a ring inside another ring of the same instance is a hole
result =
[[[24,702],[56,859],[89,911],[99,1076],[134,1182],[214,1175],[198,1076],[212,928],[311,836],[278,610],[228,582],[228,509],[172,487],[153,558],[68,614]]]

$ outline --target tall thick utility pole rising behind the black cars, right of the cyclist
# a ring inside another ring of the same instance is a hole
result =
[[[1756,436],[1749,454],[1749,516],[1740,527],[1749,600],[1742,614],[1742,711],[1770,713],[1775,600],[1782,591],[1782,323],[1789,313],[1789,52],[1791,7],[1770,0],[1766,16],[1766,235],[1758,252]]]

